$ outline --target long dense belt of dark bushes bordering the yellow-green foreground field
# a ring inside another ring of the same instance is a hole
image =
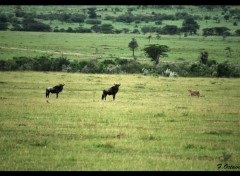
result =
[[[240,77],[239,65],[229,62],[217,63],[207,60],[207,53],[200,54],[199,62],[161,62],[161,64],[142,64],[129,59],[95,59],[88,61],[70,60],[64,56],[13,57],[0,60],[0,71],[63,71],[77,73],[143,74],[170,77]],[[155,62],[154,62],[155,63]]]

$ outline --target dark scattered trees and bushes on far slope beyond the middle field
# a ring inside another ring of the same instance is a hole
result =
[[[136,7],[143,8],[143,7]],[[157,8],[157,7],[154,7]],[[212,8],[212,7],[205,7]],[[102,9],[106,10],[106,9]],[[228,10],[227,8],[223,8],[223,17],[211,17],[208,15],[200,16],[200,15],[192,15],[187,12],[176,12],[175,14],[162,14],[152,12],[150,14],[133,14],[132,11],[134,8],[128,8],[128,11],[125,14],[121,15],[107,15],[101,17],[98,15],[99,9],[96,8],[86,8],[84,9],[84,13],[49,13],[49,14],[36,14],[35,12],[27,13],[21,9],[21,6],[17,6],[14,14],[6,15],[4,13],[0,13],[0,30],[12,30],[12,31],[45,31],[45,32],[74,32],[74,33],[157,33],[157,34],[184,34],[187,35],[195,35],[197,31],[200,29],[200,25],[197,23],[197,20],[206,20],[206,22],[210,19],[216,20],[216,23],[220,23],[221,20],[239,20],[240,19],[240,11],[237,9]],[[120,9],[114,8],[113,12],[117,13]],[[108,20],[111,21],[109,23],[103,23],[102,21]],[[183,20],[182,27],[178,27],[176,25],[165,25],[163,27],[159,27],[162,25],[163,20]],[[41,22],[42,20],[50,21],[50,24],[46,24]],[[79,23],[79,27],[72,28],[68,27],[67,29],[55,27],[54,29],[51,27],[51,21],[59,20],[61,22],[66,23]],[[122,22],[133,24],[135,23],[134,29],[131,31],[127,28],[123,29],[115,29],[112,25],[114,22]],[[138,24],[141,22],[145,22],[146,25],[141,28],[138,27]],[[147,25],[148,22],[154,22],[155,25]],[[83,23],[91,24],[92,26],[89,28],[84,28],[81,25]],[[233,25],[237,26],[237,22],[233,22]],[[203,36],[229,36],[229,35],[237,35],[240,36],[240,29],[234,31],[234,33],[230,32],[230,29],[222,26],[222,27],[212,27],[212,28],[204,28],[202,29]]]

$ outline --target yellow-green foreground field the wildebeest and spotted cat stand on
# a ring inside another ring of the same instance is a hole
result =
[[[58,83],[63,92],[47,103],[46,87]],[[113,83],[121,83],[116,100],[102,101]],[[0,170],[239,167],[239,85],[230,78],[1,72]],[[201,96],[190,97],[190,88]],[[222,161],[223,152],[232,155]]]

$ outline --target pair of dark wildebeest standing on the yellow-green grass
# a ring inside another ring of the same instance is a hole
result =
[[[104,89],[103,93],[102,93],[102,100],[106,100],[107,95],[112,95],[113,96],[113,100],[115,100],[115,97],[116,97],[116,94],[117,94],[117,92],[119,90],[119,86],[120,85],[121,84],[114,84],[114,86],[112,86],[111,88]],[[54,86],[54,87],[46,88],[46,98],[49,98],[49,94],[50,93],[56,94],[56,98],[58,98],[58,94],[60,92],[62,92],[63,86],[64,86],[64,84],[59,84],[59,85]]]

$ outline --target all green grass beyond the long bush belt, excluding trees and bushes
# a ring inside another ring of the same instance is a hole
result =
[[[209,54],[209,60],[216,60],[218,62],[230,61],[239,64],[239,36],[235,35],[235,31],[239,29],[239,19],[231,16],[229,20],[224,19],[224,15],[230,13],[231,10],[238,10],[240,6],[225,6],[228,13],[222,7],[215,7],[212,10],[201,6],[168,6],[157,7],[154,6],[84,6],[84,5],[67,5],[67,6],[27,6],[21,7],[25,13],[31,14],[85,14],[88,15],[87,9],[89,7],[96,7],[98,19],[102,24],[111,24],[114,29],[129,29],[128,34],[99,34],[99,33],[54,33],[54,32],[14,32],[14,31],[0,31],[0,60],[12,59],[13,57],[38,57],[41,55],[53,55],[59,57],[61,55],[67,56],[69,59],[89,60],[89,59],[109,59],[113,57],[118,58],[132,58],[132,51],[128,48],[128,43],[134,37],[136,38],[139,47],[135,51],[135,55],[141,62],[150,62],[144,55],[143,48],[148,44],[162,44],[170,47],[169,57],[164,58],[166,61],[190,61],[198,60],[199,53],[204,49]],[[17,6],[0,6],[2,14],[12,16],[15,14]],[[166,25],[175,25],[178,28],[182,27],[183,19],[163,20],[162,24],[156,25],[155,21],[141,20],[136,23],[124,23],[116,20],[107,20],[107,16],[118,17],[126,14],[130,9],[133,15],[150,15],[152,13],[175,15],[176,13],[187,13],[197,15],[196,21],[200,25],[197,35],[184,37],[179,35],[161,35],[161,39],[156,39],[156,33],[132,34],[133,29],[138,29],[144,26],[160,27]],[[116,11],[118,9],[118,11]],[[236,15],[236,14],[235,14]],[[209,20],[205,20],[208,16]],[[216,22],[216,18],[220,19]],[[88,19],[88,18],[87,18]],[[22,21],[22,17],[18,18]],[[51,26],[52,29],[69,27],[75,29],[77,27],[90,28],[92,24],[73,23],[59,20],[37,19]],[[204,28],[214,27],[228,27],[233,36],[228,36],[223,40],[222,36],[203,37],[202,30]],[[9,26],[11,28],[11,26]],[[147,37],[152,35],[152,39]],[[226,47],[232,50],[231,57],[226,54]]]

